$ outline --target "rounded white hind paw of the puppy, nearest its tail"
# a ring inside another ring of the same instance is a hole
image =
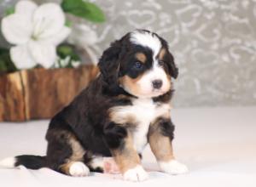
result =
[[[90,169],[81,161],[75,161],[69,167],[69,174],[73,177],[84,177],[90,174]]]

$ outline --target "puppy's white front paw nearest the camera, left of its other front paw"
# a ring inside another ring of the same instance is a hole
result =
[[[148,173],[140,165],[132,169],[129,169],[124,173],[124,179],[133,182],[143,181],[146,180],[147,178]]]

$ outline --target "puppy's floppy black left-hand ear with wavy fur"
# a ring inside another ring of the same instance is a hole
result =
[[[119,54],[121,46],[119,41],[111,43],[107,48],[98,63],[102,77],[107,83],[117,82],[119,75]]]

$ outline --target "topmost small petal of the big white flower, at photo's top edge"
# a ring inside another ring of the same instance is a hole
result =
[[[38,8],[36,3],[32,1],[20,1],[15,6],[15,14],[24,14],[27,15],[29,18],[32,18],[32,14]]]

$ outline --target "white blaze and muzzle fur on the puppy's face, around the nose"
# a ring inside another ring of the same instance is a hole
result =
[[[153,65],[152,68],[143,74],[143,77],[137,82],[140,87],[140,97],[155,97],[165,94],[171,88],[171,82],[166,75],[166,71],[159,65],[157,54],[160,53],[162,47],[160,39],[150,32],[134,31],[131,33],[131,42],[148,47],[153,52]],[[153,88],[153,81],[161,80],[162,87],[160,89]]]

